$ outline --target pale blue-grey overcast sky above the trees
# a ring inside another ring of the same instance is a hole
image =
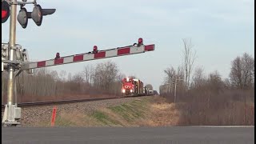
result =
[[[29,50],[33,61],[81,54],[92,50],[128,46],[144,39],[155,44],[145,54],[54,66],[76,74],[86,65],[111,60],[126,75],[135,75],[158,90],[163,70],[182,64],[182,38],[191,38],[207,74],[218,70],[228,78],[230,62],[238,55],[254,57],[254,0],[38,0],[42,8],[55,8],[43,17],[42,26],[29,20],[17,26],[17,43]],[[33,6],[26,6],[32,10]],[[10,18],[9,18],[10,20]],[[2,24],[2,42],[9,41],[9,22]]]

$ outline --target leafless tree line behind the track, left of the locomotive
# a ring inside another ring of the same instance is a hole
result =
[[[22,72],[16,80],[18,102],[88,98],[97,95],[121,93],[124,74],[114,62],[84,66],[77,74],[66,74],[47,68],[34,70],[34,74]],[[6,102],[7,74],[2,72],[2,102]]]

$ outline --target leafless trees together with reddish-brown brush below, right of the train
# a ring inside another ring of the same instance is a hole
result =
[[[254,125],[254,58],[247,53],[234,58],[229,78],[222,78],[218,70],[206,74],[202,66],[194,68],[196,55],[185,54],[192,61],[183,57],[177,69],[166,68],[159,87],[160,94],[174,102],[176,83],[176,102],[185,103],[178,106],[180,125]]]

